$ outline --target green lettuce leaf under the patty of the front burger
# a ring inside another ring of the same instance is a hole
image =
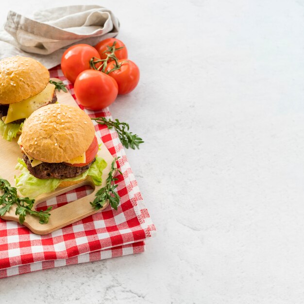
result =
[[[95,185],[101,185],[102,183],[102,171],[107,166],[106,161],[97,156],[96,161],[91,165],[91,167],[84,173],[74,177],[66,179],[50,178],[50,179],[39,179],[34,177],[29,170],[25,162],[18,158],[18,164],[16,169],[21,171],[19,176],[15,176],[15,184],[22,196],[30,197],[34,199],[40,194],[49,193],[55,190],[62,181],[78,181],[83,180],[87,175],[92,177]]]

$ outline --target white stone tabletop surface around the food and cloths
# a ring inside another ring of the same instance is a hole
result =
[[[0,20],[82,3],[1,1]],[[110,110],[145,139],[127,155],[158,235],[2,279],[0,303],[303,303],[304,1],[95,3],[141,71]]]

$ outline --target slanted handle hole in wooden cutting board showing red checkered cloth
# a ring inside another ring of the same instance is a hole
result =
[[[68,203],[79,200],[85,196],[90,195],[94,191],[94,188],[90,185],[80,186],[78,188],[74,188],[65,193],[62,193],[56,197],[53,197],[47,201],[43,201],[38,203],[35,206],[35,210],[46,210],[48,207],[52,207],[52,210],[64,206]],[[89,203],[89,202],[88,202]]]

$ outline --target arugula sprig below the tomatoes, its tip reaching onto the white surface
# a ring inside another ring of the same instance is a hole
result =
[[[134,150],[135,148],[139,149],[139,144],[144,142],[138,135],[128,132],[130,127],[126,122],[120,122],[118,119],[106,119],[105,117],[91,119],[95,120],[101,125],[106,125],[109,129],[115,129],[122,145],[127,149],[129,147]]]

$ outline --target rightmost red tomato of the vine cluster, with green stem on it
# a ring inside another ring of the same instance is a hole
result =
[[[118,84],[118,94],[128,94],[133,91],[139,82],[139,68],[129,59],[120,59],[118,64],[121,67],[108,75],[113,77]],[[115,67],[115,61],[107,66],[107,71]]]

